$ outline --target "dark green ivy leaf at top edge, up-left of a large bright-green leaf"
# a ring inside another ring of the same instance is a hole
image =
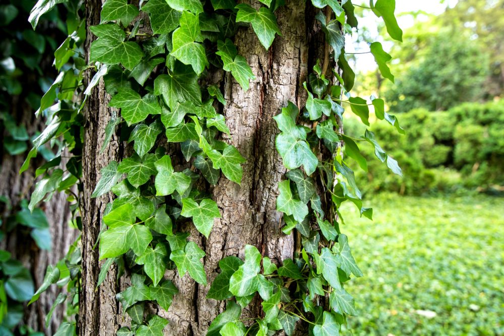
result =
[[[165,0],[149,0],[142,6],[142,11],[149,14],[154,34],[168,34],[178,27],[181,13],[171,8]]]

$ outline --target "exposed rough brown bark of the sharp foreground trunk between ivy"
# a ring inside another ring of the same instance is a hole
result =
[[[88,0],[86,9],[88,27],[98,24],[100,0]],[[206,252],[203,261],[209,285],[201,286],[188,275],[180,278],[176,270],[165,274],[165,278],[172,280],[179,290],[168,312],[156,311],[170,321],[165,329],[170,335],[204,335],[212,320],[225,309],[224,302],[206,299],[210,284],[218,274],[220,259],[229,255],[242,258],[245,245],[251,244],[258,247],[263,256],[269,256],[279,264],[285,258],[292,258],[296,246],[300,245],[295,233],[282,233],[282,216],[276,211],[277,185],[286,169],[275,149],[275,137],[279,131],[272,117],[279,114],[289,100],[298,107],[304,106],[303,82],[307,80],[308,69],[317,58],[324,56],[324,35],[316,29],[316,12],[303,0],[289,0],[275,14],[283,36],[277,36],[268,51],[251,27],[242,28],[235,37],[239,54],[247,58],[256,76],[248,91],[243,91],[230,74],[219,72],[209,76],[221,86],[226,99],[221,113],[226,117],[231,136],[224,135],[225,141],[234,145],[246,162],[242,165],[241,185],[221,177],[209,190],[222,215],[215,220],[209,238],[203,237],[196,229],[191,230],[190,240]],[[92,39],[92,34],[88,33],[87,50]],[[112,335],[120,326],[128,325],[115,299],[125,285],[123,282],[128,280],[116,281],[117,271],[112,266],[102,286],[95,291],[100,267],[98,248],[92,247],[98,237],[105,205],[112,197],[105,194],[91,199],[90,195],[99,180],[99,170],[111,160],[120,159],[124,153],[123,145],[115,138],[109,148],[99,154],[105,125],[111,114],[108,99],[103,84],[100,84],[88,97],[85,107],[81,335]],[[259,301],[251,302],[244,312],[257,316],[261,312]]]

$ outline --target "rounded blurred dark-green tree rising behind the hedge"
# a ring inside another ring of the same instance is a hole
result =
[[[483,96],[489,63],[477,41],[460,31],[426,33],[423,25],[406,36],[401,48],[404,51],[397,53],[398,63],[406,69],[395,85],[387,84],[385,88],[391,110],[447,110]]]

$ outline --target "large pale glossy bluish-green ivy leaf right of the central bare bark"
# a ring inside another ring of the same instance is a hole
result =
[[[275,146],[287,169],[296,169],[303,165],[306,174],[311,175],[317,168],[319,160],[304,141],[306,131],[295,124],[298,114],[297,107],[289,102],[287,107],[282,108],[281,114],[273,117],[282,131],[276,138]]]

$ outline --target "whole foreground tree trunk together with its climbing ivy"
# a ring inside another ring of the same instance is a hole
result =
[[[373,12],[400,40],[394,7],[379,0]],[[48,9],[35,6],[34,26]],[[402,131],[383,100],[348,93],[353,5],[88,0],[85,10],[86,42],[68,47],[73,58],[46,95],[77,89],[58,97],[65,112],[42,132],[64,139],[82,167],[81,177],[66,166],[80,178],[82,263],[69,280],[79,315],[59,330],[338,334],[356,313],[343,283],[362,276],[339,206],[372,215],[341,156],[344,142],[366,169],[343,134],[342,104],[366,125],[372,104]],[[371,50],[390,77],[390,55],[377,42]],[[356,140],[401,174],[372,132]],[[37,184],[42,193],[72,185],[60,170]],[[61,281],[53,271],[47,283]]]

